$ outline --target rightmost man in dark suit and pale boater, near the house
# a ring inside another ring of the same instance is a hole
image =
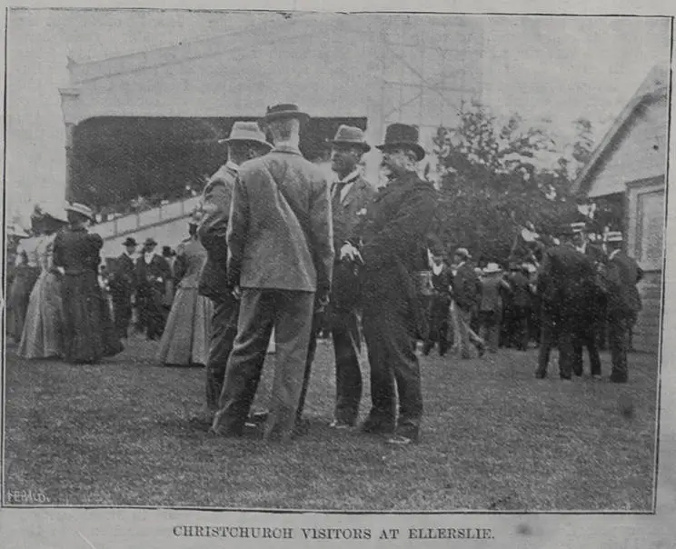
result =
[[[603,278],[608,286],[608,324],[611,347],[611,382],[624,384],[629,379],[627,351],[629,333],[641,311],[641,294],[636,284],[641,282],[643,271],[636,260],[622,249],[622,235],[611,232],[606,236],[610,255]]]

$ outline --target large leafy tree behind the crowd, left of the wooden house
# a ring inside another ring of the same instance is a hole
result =
[[[435,230],[449,247],[506,262],[518,255],[523,226],[549,232],[575,211],[569,161],[542,167],[556,144],[519,115],[501,125],[486,106],[463,105],[458,127],[440,127],[434,145],[442,177]]]

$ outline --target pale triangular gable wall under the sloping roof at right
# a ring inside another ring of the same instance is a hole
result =
[[[637,106],[592,175],[591,198],[621,193],[633,181],[666,173],[668,106],[666,96]]]

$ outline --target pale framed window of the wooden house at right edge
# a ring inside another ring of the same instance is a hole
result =
[[[636,259],[644,269],[659,270],[664,238],[664,191],[639,194],[637,206]]]

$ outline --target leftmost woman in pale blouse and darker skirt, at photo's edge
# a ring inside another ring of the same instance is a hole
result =
[[[33,215],[31,219],[33,236],[22,239],[16,248],[15,277],[7,293],[7,334],[16,343],[24,333],[25,314],[28,309],[33,286],[40,276],[37,245],[42,240],[44,216]]]

